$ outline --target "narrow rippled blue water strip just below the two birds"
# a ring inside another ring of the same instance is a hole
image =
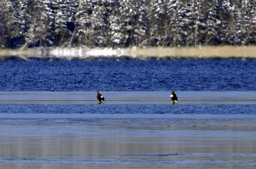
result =
[[[256,105],[0,105],[15,114],[256,115]]]

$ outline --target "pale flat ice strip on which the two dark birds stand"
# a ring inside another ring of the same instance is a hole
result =
[[[171,91],[102,92],[106,105],[172,104]],[[0,104],[97,104],[95,92],[0,92]],[[178,104],[256,104],[256,92],[177,91]]]

